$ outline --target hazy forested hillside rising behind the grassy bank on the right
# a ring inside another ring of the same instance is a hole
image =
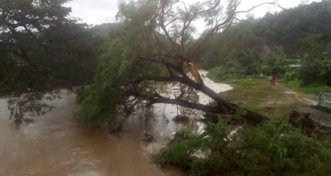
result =
[[[248,18],[211,38],[203,51],[200,63],[216,67],[210,74],[215,80],[279,74],[330,85],[331,0]]]

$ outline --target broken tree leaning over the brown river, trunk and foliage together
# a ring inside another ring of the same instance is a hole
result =
[[[274,1],[238,11],[239,3],[240,0],[206,0],[194,4],[181,0],[121,1],[117,18],[122,26],[112,31],[102,48],[94,84],[78,97],[83,102],[82,118],[93,121],[100,113],[116,110],[118,105],[127,107],[126,100],[134,96],[136,101],[147,100],[148,106],[175,104],[239,115],[254,123],[267,120],[268,117],[230,103],[208,88],[194,64],[205,41],[237,23],[238,14],[265,4],[280,7]],[[205,30],[194,39],[194,26],[202,23]],[[175,93],[169,87],[179,90]],[[198,92],[215,103],[199,103]]]

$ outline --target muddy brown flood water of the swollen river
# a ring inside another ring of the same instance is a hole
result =
[[[204,70],[200,70],[206,74]],[[231,89],[204,78],[215,91]],[[54,110],[37,117],[35,122],[16,125],[9,120],[7,99],[0,99],[0,176],[181,176],[174,168],[160,168],[150,155],[164,147],[183,124],[171,119],[177,106],[157,104],[156,118],[146,120],[143,110],[136,110],[121,134],[107,134],[79,124],[75,95],[62,91],[62,99],[50,102]],[[201,96],[206,102],[206,97]],[[162,116],[163,108],[166,118]],[[190,125],[190,124],[186,124]],[[156,142],[142,141],[147,131]]]

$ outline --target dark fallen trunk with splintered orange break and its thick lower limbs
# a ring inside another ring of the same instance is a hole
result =
[[[165,104],[175,104],[179,105],[185,108],[195,109],[195,110],[202,110],[205,112],[211,112],[211,113],[218,113],[218,114],[232,114],[232,115],[239,115],[243,118],[252,121],[254,123],[260,123],[264,120],[268,120],[269,118],[261,115],[259,113],[253,112],[251,110],[247,110],[245,108],[241,108],[236,104],[230,103],[224,98],[222,98],[218,93],[216,93],[211,88],[208,88],[206,85],[204,85],[204,81],[199,73],[199,71],[195,68],[192,61],[189,61],[191,66],[189,67],[192,75],[195,74],[194,78],[196,81],[192,80],[184,71],[183,69],[183,63],[180,66],[175,66],[165,60],[155,60],[151,57],[139,57],[139,59],[154,62],[158,64],[163,64],[164,66],[175,70],[179,73],[179,76],[174,76],[174,74],[170,71],[170,77],[145,77],[143,79],[134,81],[133,84],[139,84],[141,81],[158,81],[158,82],[177,82],[183,85],[190,86],[194,88],[197,91],[201,91],[211,99],[213,99],[217,106],[211,106],[211,105],[202,105],[198,103],[193,103],[189,101],[185,101],[181,99],[181,96],[175,99],[166,98],[163,97],[157,93],[153,94],[152,97],[149,98],[149,104],[155,104],[155,103],[165,103]],[[180,58],[182,59],[182,58]],[[183,59],[182,59],[183,60]],[[187,60],[187,59],[185,59]],[[192,66],[193,65],[193,66]],[[192,70],[193,69],[193,70]],[[184,94],[185,92],[182,92]]]

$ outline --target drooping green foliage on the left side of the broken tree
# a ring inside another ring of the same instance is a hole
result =
[[[94,126],[104,120],[114,120],[129,96],[143,96],[139,93],[149,91],[144,87],[146,85],[131,90],[131,82],[142,76],[164,75],[166,70],[138,58],[152,55],[159,49],[153,45],[155,41],[150,39],[152,31],[145,25],[152,18],[155,4],[148,1],[122,2],[119,9],[117,18],[123,22],[110,29],[99,50],[95,78],[77,96],[77,102],[81,104],[79,120]]]

